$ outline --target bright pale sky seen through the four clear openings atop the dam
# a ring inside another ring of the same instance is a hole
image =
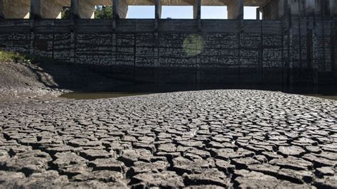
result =
[[[256,9],[245,6],[244,18],[256,19]],[[154,18],[154,6],[129,6],[127,18]],[[163,6],[161,18],[193,19],[193,6]],[[201,6],[201,18],[227,19],[227,6]]]

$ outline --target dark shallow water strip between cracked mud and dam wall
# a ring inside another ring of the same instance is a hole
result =
[[[103,92],[70,92],[60,97],[67,99],[106,99],[117,97],[129,97],[138,95],[149,95],[163,92],[180,92],[192,90],[270,90],[281,91],[291,94],[320,97],[323,99],[337,100],[337,86],[323,85],[313,87],[312,85],[294,85],[284,87],[281,85],[181,85],[181,84],[149,84],[134,83],[132,85],[122,85],[116,88],[109,88]]]

